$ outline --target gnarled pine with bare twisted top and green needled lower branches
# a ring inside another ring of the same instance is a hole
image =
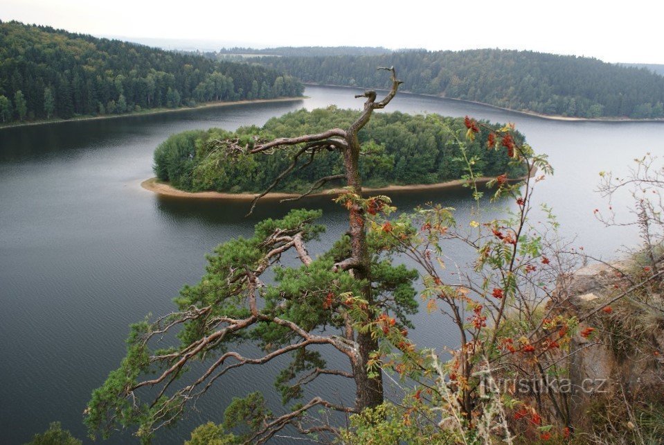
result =
[[[115,428],[136,425],[137,435],[147,442],[156,430],[181,417],[186,405],[205,394],[218,378],[281,356],[291,358],[276,381],[285,403],[302,398],[303,387],[317,378],[352,380],[355,403],[341,405],[314,396],[277,415],[267,409],[262,394],[252,393],[228,406],[223,427],[230,431],[243,425],[244,429],[241,434],[226,435],[223,443],[263,443],[287,425],[300,433],[338,435],[325,415],[314,424],[303,423],[307,410],[357,413],[383,402],[382,371],[370,366],[379,348],[376,328],[389,331],[410,326],[407,317],[417,308],[413,280],[418,277],[414,270],[392,265],[394,241],[368,232],[367,216],[391,211],[389,199],[361,197],[362,148],[357,133],[375,110],[390,103],[402,83],[393,68],[387,70],[391,90],[380,101],[375,91],[356,96],[366,98],[364,110],[347,129],[255,140],[245,146],[238,141],[215,141],[229,156],[271,155],[276,150],[291,155],[290,166],[256,196],[250,213],[283,177],[306,168],[318,153],[340,152],[344,173],[321,177],[299,198],[327,182],[345,181],[346,193],[337,200],[348,209],[348,232],[330,250],[312,256],[307,242],[324,227],[315,223],[319,211],[303,209],[258,223],[249,238],[219,245],[208,257],[201,281],[185,286],[175,299],[177,311],[132,326],[127,356],[92,394],[86,410],[91,435],[106,436]],[[299,259],[299,268],[273,267],[288,254]],[[270,268],[274,272],[271,284],[262,281]],[[163,345],[163,339],[172,338],[170,333],[177,333],[177,342]],[[249,357],[233,350],[237,342],[246,340],[261,347],[264,355]],[[348,363],[329,366],[314,346],[339,351]],[[203,371],[189,375],[190,369],[200,369],[190,367],[197,361],[204,363]]]

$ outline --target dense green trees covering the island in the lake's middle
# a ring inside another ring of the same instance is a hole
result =
[[[246,150],[229,149],[227,143],[220,141],[237,139],[237,146],[252,148],[254,135],[273,139],[347,128],[358,113],[337,107],[312,112],[299,110],[270,119],[262,128],[242,127],[234,133],[210,128],[173,134],[156,148],[154,172],[159,180],[186,191],[262,191],[291,164],[295,149],[250,155]],[[374,187],[435,184],[459,179],[467,164],[457,138],[462,134],[463,139],[465,132],[464,120],[458,118],[437,114],[411,116],[401,112],[374,114],[359,134],[364,150],[361,162],[364,184]],[[464,142],[467,156],[476,157],[474,171],[490,176],[523,175],[523,169],[510,165],[505,150],[487,150],[487,137],[488,130],[482,128],[474,142]],[[519,135],[517,139],[523,137]],[[306,158],[300,159],[296,171],[285,177],[275,190],[307,191],[321,177],[342,173],[338,152],[319,152],[310,165],[304,166],[309,160]],[[339,182],[329,184],[339,185]]]

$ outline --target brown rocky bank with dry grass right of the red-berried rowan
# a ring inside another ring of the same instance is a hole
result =
[[[571,343],[573,417],[598,397],[664,401],[664,304],[652,292],[658,283],[611,303],[634,287],[635,268],[629,261],[595,263],[559,279],[557,295],[566,299],[566,315],[582,320],[579,331],[594,329],[592,335],[575,335]]]

